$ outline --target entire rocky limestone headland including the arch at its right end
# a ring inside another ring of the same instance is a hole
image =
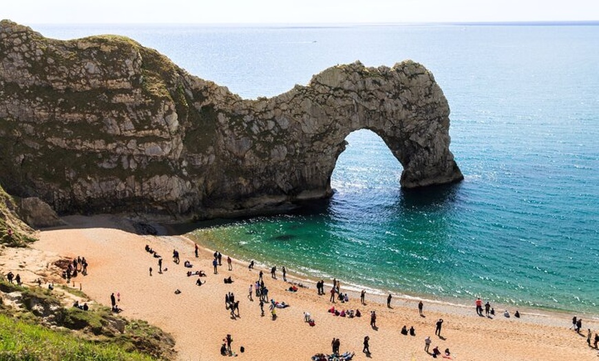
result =
[[[0,22],[0,183],[57,212],[211,216],[330,195],[346,136],[379,134],[402,187],[461,180],[432,74],[337,65],[244,100],[124,37]]]

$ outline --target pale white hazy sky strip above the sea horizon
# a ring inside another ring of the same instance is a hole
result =
[[[599,20],[598,0],[8,0],[37,23],[381,23]]]

